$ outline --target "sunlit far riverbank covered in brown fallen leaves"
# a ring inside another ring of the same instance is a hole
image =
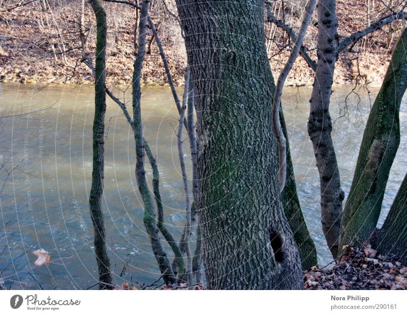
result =
[[[3,6],[6,8],[6,4]],[[82,49],[78,35],[77,6],[78,4],[67,2],[61,7],[50,7],[44,10],[38,7],[37,3],[33,3],[3,12],[0,16],[0,82],[93,84],[91,70],[81,62]],[[106,4],[105,7],[109,27],[107,83],[130,85],[134,61],[134,11],[129,6],[118,4]],[[293,17],[294,9],[289,9],[292,10],[289,12],[288,9],[286,10],[285,19],[289,25],[299,21],[297,17]],[[386,14],[386,12],[381,13],[380,10],[383,10],[381,7],[375,10],[371,13],[371,15],[374,13],[371,21],[377,16]],[[182,86],[186,53],[179,25],[165,10],[159,8],[158,3],[151,14],[157,25],[173,79],[176,85]],[[337,15],[340,39],[364,29],[369,22],[366,18],[366,2],[363,0],[352,2],[338,0]],[[85,25],[90,33],[85,54],[91,56],[93,61],[95,60],[94,23],[93,12],[86,7]],[[342,51],[336,64],[334,83],[357,82],[380,86],[390,60],[389,51],[403,25],[401,21],[394,22],[370,35],[366,40],[359,41],[352,47],[352,51]],[[304,42],[314,60],[316,29],[315,25],[310,26]],[[285,34],[273,28],[273,25],[266,24],[266,37],[269,36],[273,40],[266,40],[266,45],[271,68],[277,76],[289,55],[289,47],[286,46]],[[148,51],[141,82],[143,85],[166,85],[167,78],[162,60],[150,30],[148,38]],[[313,71],[299,57],[286,84],[312,85],[313,80]]]

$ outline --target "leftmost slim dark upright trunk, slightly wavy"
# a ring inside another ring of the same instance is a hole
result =
[[[95,117],[93,121],[93,169],[92,188],[89,207],[94,229],[95,254],[99,271],[99,289],[109,289],[113,283],[110,259],[107,254],[106,231],[102,211],[103,178],[104,178],[104,128],[106,113],[106,12],[98,0],[90,2],[96,15],[96,83],[95,83]]]

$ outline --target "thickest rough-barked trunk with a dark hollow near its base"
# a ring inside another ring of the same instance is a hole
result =
[[[177,0],[195,92],[196,206],[210,289],[302,288],[278,189],[263,3]]]

